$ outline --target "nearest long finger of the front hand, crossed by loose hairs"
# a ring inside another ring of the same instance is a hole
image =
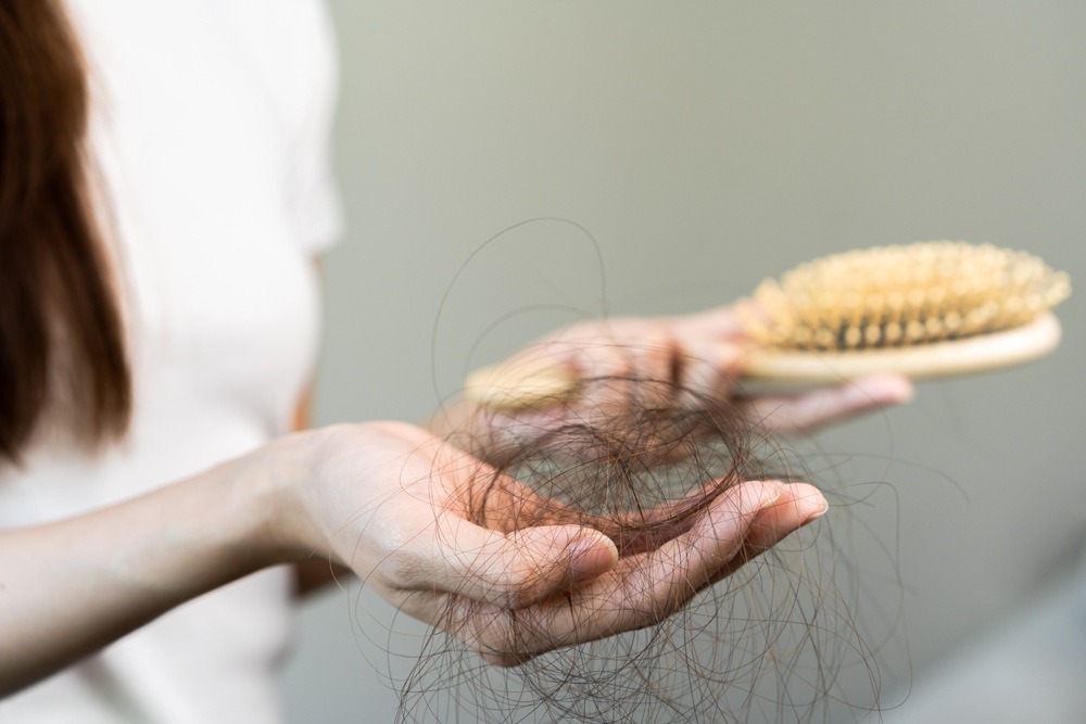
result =
[[[512,665],[550,649],[657,623],[728,570],[756,518],[781,496],[779,484],[738,485],[687,533],[656,550],[622,559],[566,597],[516,612],[464,607],[462,635],[489,661]]]

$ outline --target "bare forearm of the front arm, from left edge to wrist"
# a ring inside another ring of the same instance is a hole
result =
[[[288,559],[269,528],[281,494],[260,460],[0,533],[0,696],[205,592]]]

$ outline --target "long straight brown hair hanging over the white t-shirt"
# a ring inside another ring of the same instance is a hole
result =
[[[88,203],[87,78],[55,0],[0,3],[0,458],[18,460],[47,402],[80,440],[124,431],[131,383]],[[73,379],[58,380],[58,350]],[[63,384],[64,390],[52,389]]]

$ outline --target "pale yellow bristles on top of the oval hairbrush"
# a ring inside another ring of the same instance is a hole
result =
[[[1025,252],[917,242],[808,262],[780,282],[762,282],[743,319],[765,347],[882,350],[1027,325],[1070,291],[1065,274]]]

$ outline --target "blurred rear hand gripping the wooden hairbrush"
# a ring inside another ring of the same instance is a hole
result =
[[[908,401],[912,385],[881,374],[796,395],[744,393],[748,346],[730,306],[679,316],[596,320],[532,344],[498,366],[508,390],[472,391],[432,428],[488,459],[565,425],[611,428],[631,401],[714,408],[769,434],[809,431]],[[526,370],[527,384],[518,381]],[[512,382],[509,379],[512,378]],[[518,395],[521,395],[518,397]],[[655,395],[655,399],[653,396]],[[459,436],[455,436],[462,433]]]

